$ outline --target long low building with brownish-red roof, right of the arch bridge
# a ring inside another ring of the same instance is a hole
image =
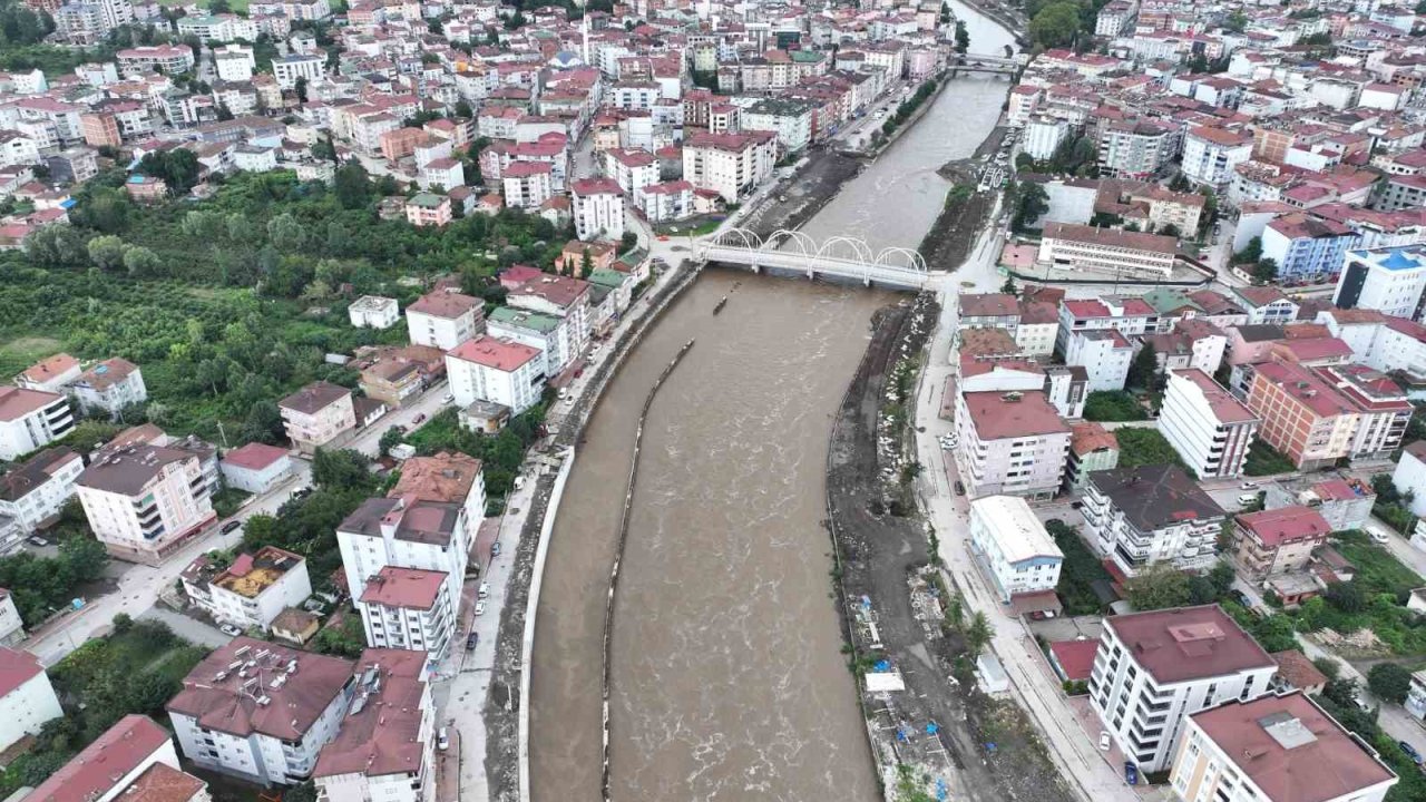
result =
[[[1161,234],[1050,223],[1035,261],[1060,270],[1129,278],[1168,278],[1178,240]]]

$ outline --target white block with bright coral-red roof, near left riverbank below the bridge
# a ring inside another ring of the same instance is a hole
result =
[[[479,337],[446,354],[446,377],[458,407],[493,401],[519,415],[545,391],[539,351],[511,340]]]

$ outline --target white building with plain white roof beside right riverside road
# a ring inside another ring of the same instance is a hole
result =
[[[995,582],[1000,601],[1052,591],[1064,552],[1024,498],[988,495],[971,502],[971,548]]]

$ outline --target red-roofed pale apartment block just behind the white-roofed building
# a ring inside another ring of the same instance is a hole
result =
[[[1044,392],[961,392],[955,430],[961,442],[955,461],[973,498],[1050,498],[1060,491],[1070,427]]]

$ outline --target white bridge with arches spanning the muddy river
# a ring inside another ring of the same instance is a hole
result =
[[[925,260],[913,248],[873,251],[864,240],[831,237],[817,243],[786,228],[759,237],[747,228],[727,228],[696,245],[700,261],[737,264],[753,273],[764,268],[796,271],[807,278],[843,278],[903,290],[923,290],[928,280]]]

